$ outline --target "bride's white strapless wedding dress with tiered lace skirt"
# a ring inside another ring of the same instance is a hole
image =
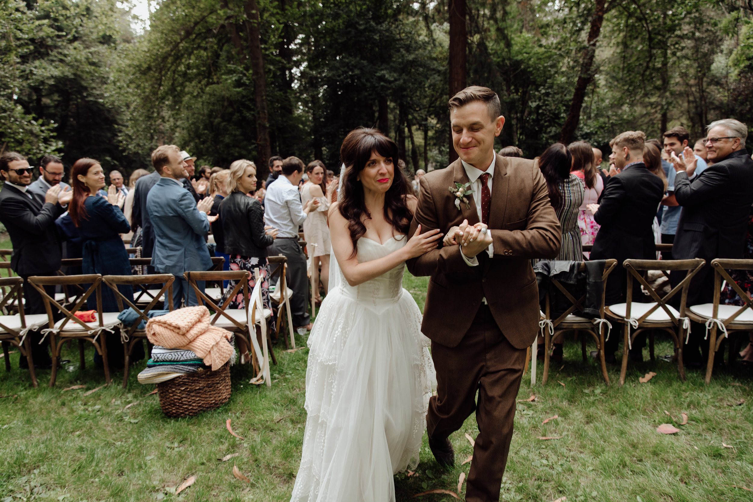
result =
[[[406,241],[361,237],[358,262]],[[331,267],[334,286],[308,341],[308,418],[294,502],[392,501],[392,476],[419,463],[436,374],[421,312],[403,289],[404,268],[350,286],[337,263]]]

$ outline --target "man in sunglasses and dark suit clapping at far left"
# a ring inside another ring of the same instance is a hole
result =
[[[44,314],[41,294],[26,281],[30,275],[56,275],[62,257],[55,220],[66,211],[72,190],[61,190],[59,184],[50,187],[44,197],[32,195],[32,168],[26,158],[16,152],[0,156],[0,176],[5,180],[0,190],[0,221],[8,229],[13,244],[11,269],[23,278],[23,297],[26,314]],[[54,286],[47,294],[55,296]],[[40,333],[32,333],[32,359],[35,367],[50,367],[47,345],[39,345]],[[27,363],[21,357],[21,367]]]

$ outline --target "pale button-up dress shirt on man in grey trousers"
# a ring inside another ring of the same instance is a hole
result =
[[[297,185],[284,175],[279,175],[273,184],[267,185],[267,195],[264,196],[265,223],[277,229],[278,239],[297,239],[298,227],[305,219]]]

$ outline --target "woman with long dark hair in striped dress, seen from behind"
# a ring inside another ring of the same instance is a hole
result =
[[[549,199],[562,226],[562,247],[556,260],[583,261],[578,213],[584,196],[584,184],[570,173],[572,155],[565,145],[555,143],[538,158],[538,169],[547,181]]]

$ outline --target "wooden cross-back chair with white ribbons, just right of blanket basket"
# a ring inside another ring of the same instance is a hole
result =
[[[241,362],[248,362],[245,360],[245,354],[247,354],[249,348],[254,346],[251,342],[252,330],[254,331],[254,336],[256,336],[255,328],[248,325],[248,279],[251,278],[251,272],[248,272],[248,270],[220,270],[216,272],[185,272],[183,275],[188,281],[189,286],[194,288],[199,305],[206,303],[207,308],[215,312],[211,321],[209,321],[210,324],[235,333],[236,339],[240,339],[241,342],[241,344],[239,344],[241,345]],[[215,300],[212,300],[212,298],[203,291],[200,291],[197,281],[237,281],[237,283],[235,288],[233,288],[227,296],[227,300],[225,300],[222,305],[219,305],[219,303],[215,303]],[[247,308],[228,309],[227,306],[229,306],[233,298],[237,297],[239,294],[242,294],[243,305]],[[272,312],[264,312],[264,314],[263,322],[267,322],[267,318],[272,315]],[[258,316],[256,321],[259,321]],[[267,337],[268,336],[269,332],[267,331]],[[277,364],[274,351],[270,351],[270,354],[273,363]],[[248,359],[250,359],[252,364],[255,365],[253,354],[249,356]]]

